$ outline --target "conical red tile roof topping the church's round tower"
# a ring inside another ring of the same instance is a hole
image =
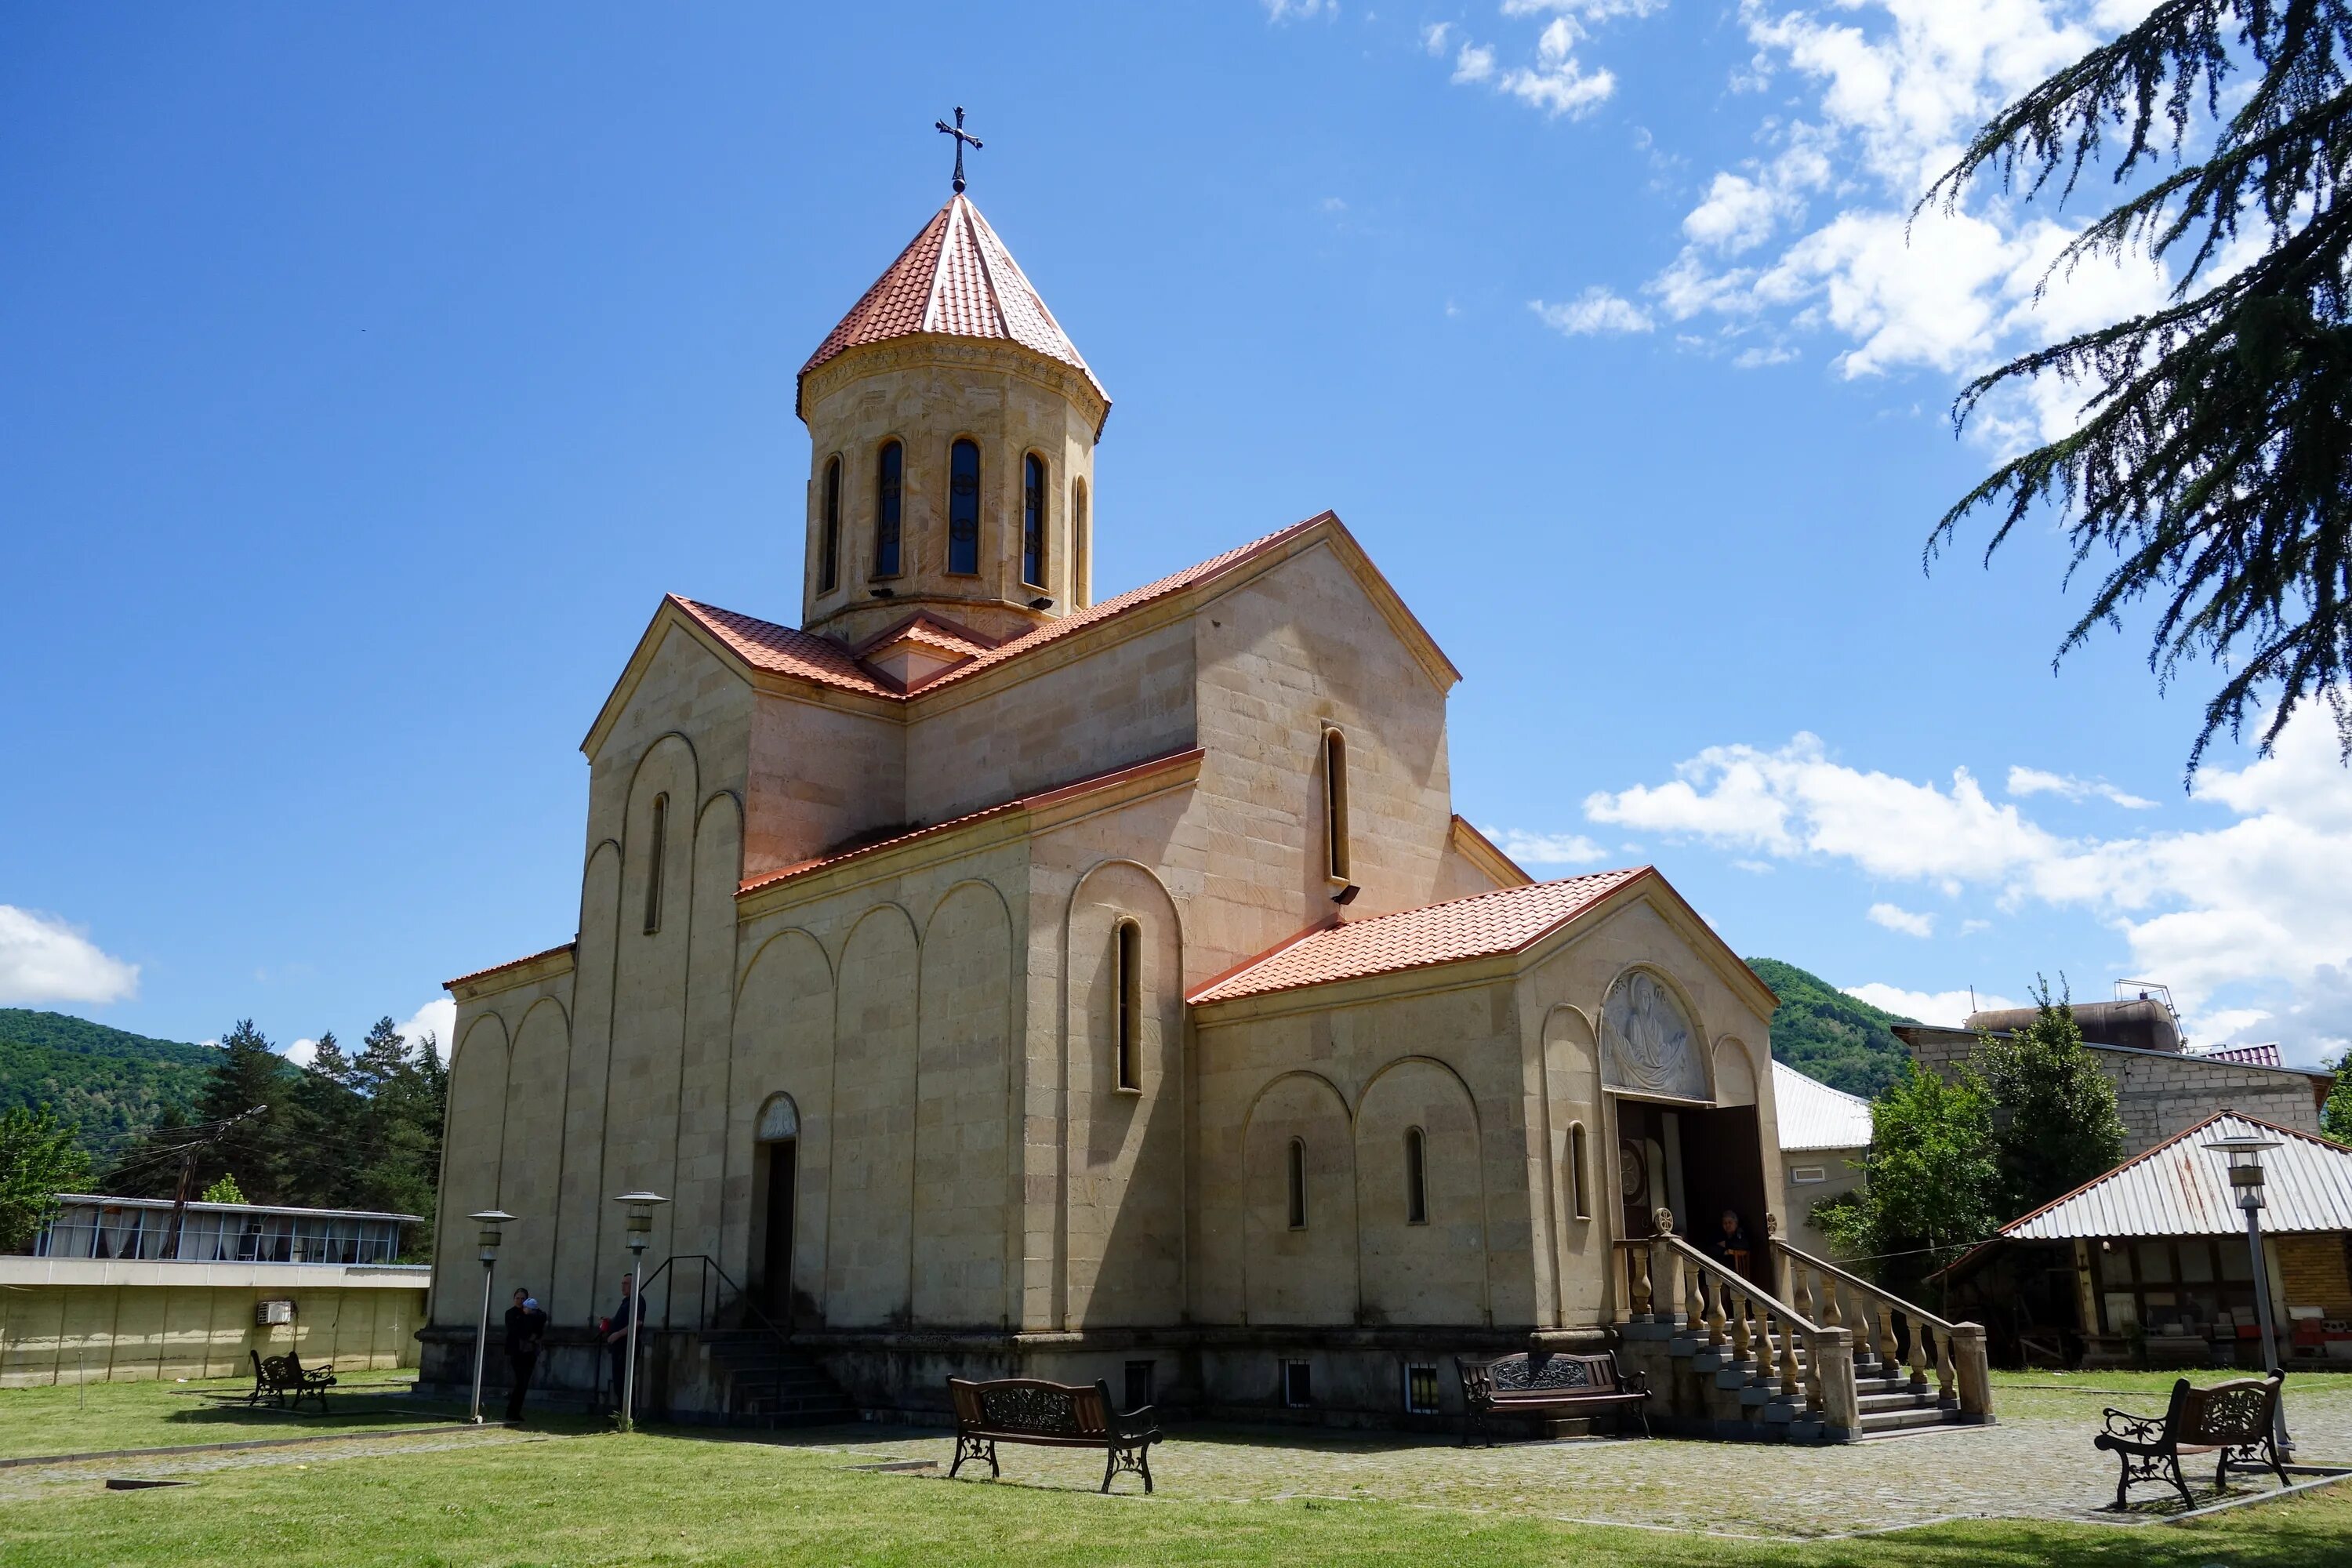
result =
[[[826,334],[800,376],[807,381],[818,364],[851,348],[917,334],[1021,343],[1082,371],[1103,402],[1110,402],[1004,240],[964,195],[950,197],[922,226],[840,327]]]

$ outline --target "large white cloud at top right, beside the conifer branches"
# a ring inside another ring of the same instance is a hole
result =
[[[2145,310],[2169,280],[2145,259],[2051,275],[2070,223],[2013,195],[1971,190],[1959,212],[1912,207],[2002,103],[2079,59],[2140,0],[1740,0],[1757,54],[1733,87],[1795,78],[1766,153],[1717,172],[1682,221],[1682,254],[1646,292],[1675,320],[1715,315],[1726,339],[1757,317],[1832,331],[1839,374],[1971,374],[2027,346]],[[1785,101],[1785,94],[1783,94]],[[1828,205],[1828,212],[1816,207]],[[1792,237],[1785,237],[1795,230]],[[1780,240],[1759,263],[1731,259]],[[2225,266],[2223,270],[2230,270]],[[2004,393],[1976,430],[2013,447],[2079,418],[2056,378]]]

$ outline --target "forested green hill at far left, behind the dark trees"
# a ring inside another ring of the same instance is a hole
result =
[[[82,1131],[92,1154],[155,1126],[167,1105],[193,1107],[216,1060],[214,1046],[127,1034],[66,1013],[0,1009],[0,1112],[47,1105],[59,1121]]]

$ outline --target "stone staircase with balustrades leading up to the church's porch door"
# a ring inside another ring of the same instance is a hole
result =
[[[1661,1215],[1665,1220],[1665,1215]],[[1750,1443],[1858,1443],[1992,1420],[1985,1335],[1773,1239],[1780,1293],[1661,1225],[1618,1244],[1618,1354],[1651,1425]]]

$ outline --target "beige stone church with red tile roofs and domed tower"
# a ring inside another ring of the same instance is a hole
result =
[[[499,1305],[593,1387],[628,1190],[673,1413],[774,1324],[868,1410],[1383,1422],[1606,1342],[1658,1208],[1764,1234],[1773,994],[1653,867],[1531,882],[1454,813],[1461,672],[1331,512],[1096,597],[1110,395],[962,190],[797,411],[797,625],[661,599],[579,933],[449,983],[428,1380],[506,1208]]]

